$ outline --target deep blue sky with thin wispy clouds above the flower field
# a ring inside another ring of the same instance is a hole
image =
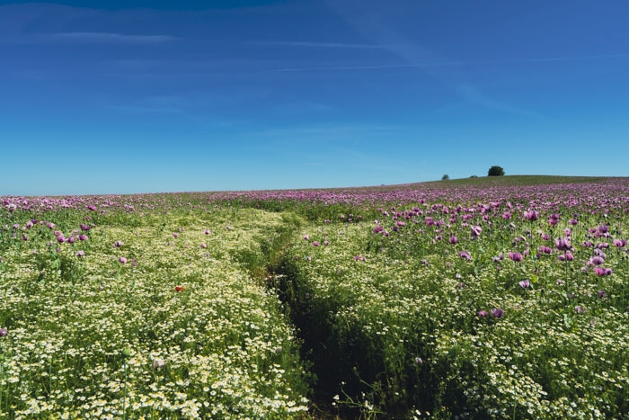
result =
[[[0,194],[629,175],[624,0],[200,3],[0,3]]]

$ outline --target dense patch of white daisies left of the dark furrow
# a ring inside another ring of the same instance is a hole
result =
[[[19,214],[2,238],[1,417],[306,410],[294,330],[243,264],[277,215]]]

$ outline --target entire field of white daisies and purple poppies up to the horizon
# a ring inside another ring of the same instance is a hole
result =
[[[629,418],[629,180],[516,178],[4,197],[0,418]]]

